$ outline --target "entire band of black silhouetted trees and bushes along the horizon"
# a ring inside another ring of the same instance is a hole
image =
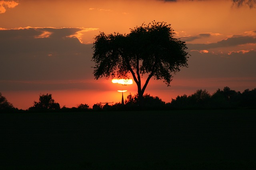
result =
[[[196,90],[194,94],[187,96],[177,96],[170,103],[163,102],[159,97],[144,94],[144,110],[162,110],[162,109],[255,109],[256,108],[256,88],[244,92],[236,92],[229,87],[223,90],[216,90],[212,95],[207,90]],[[80,111],[122,111],[139,110],[139,96],[129,94],[124,102],[125,104],[94,104],[92,108],[88,104],[79,104],[76,107],[68,108],[54,101],[52,94],[42,94],[39,101],[34,101],[34,105],[28,110],[15,108],[0,93],[0,112],[80,112]]]

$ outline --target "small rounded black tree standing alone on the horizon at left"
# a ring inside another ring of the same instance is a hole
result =
[[[39,102],[34,101],[34,106],[30,107],[29,110],[46,110],[46,109],[60,109],[60,104],[55,103],[52,98],[52,94],[42,94],[39,96]]]

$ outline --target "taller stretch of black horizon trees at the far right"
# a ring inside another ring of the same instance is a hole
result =
[[[168,103],[172,109],[249,109],[256,108],[256,88],[236,92],[229,87],[218,89],[210,95],[206,90],[197,90],[194,94],[177,96]]]

